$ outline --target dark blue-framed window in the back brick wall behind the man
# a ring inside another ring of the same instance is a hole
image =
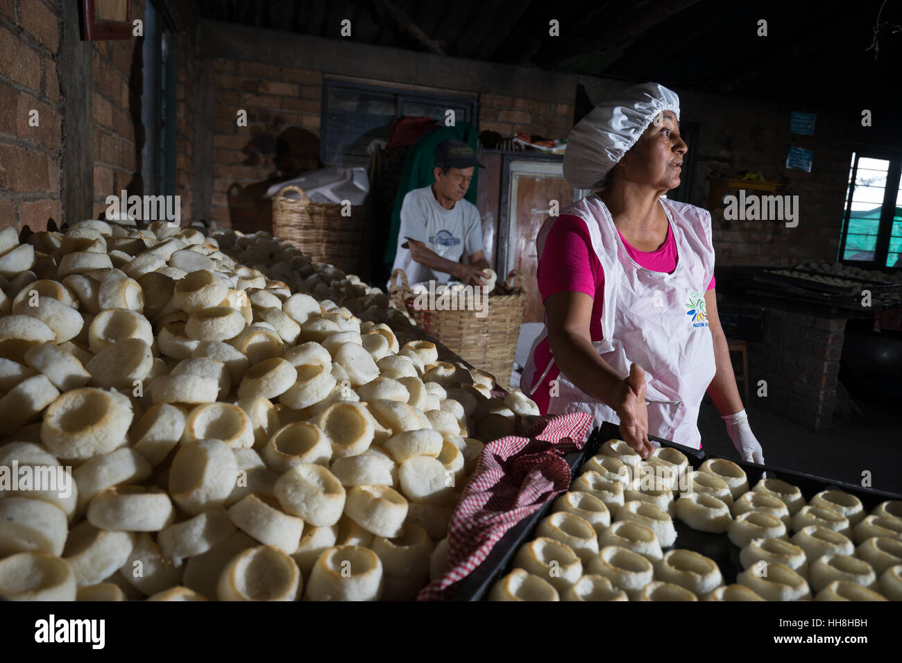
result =
[[[444,123],[448,110],[454,111],[455,123],[474,124],[475,98],[326,80],[319,161],[324,166],[369,166],[367,147],[375,139],[387,143],[395,120],[426,116]]]

